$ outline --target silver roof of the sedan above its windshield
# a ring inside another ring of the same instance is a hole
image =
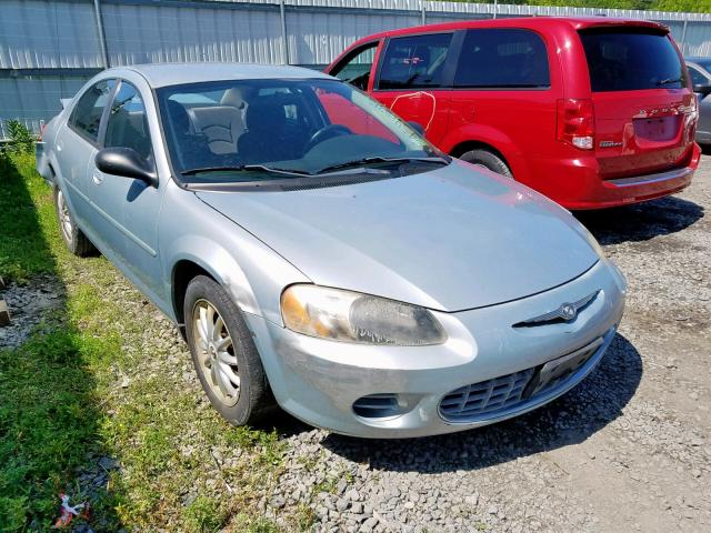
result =
[[[109,69],[103,73],[120,77],[122,71],[141,74],[153,88],[223,80],[331,79],[323,72],[301,67],[250,63],[147,63]]]

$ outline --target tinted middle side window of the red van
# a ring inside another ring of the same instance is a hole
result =
[[[379,89],[439,87],[451,33],[402,37],[388,44]]]

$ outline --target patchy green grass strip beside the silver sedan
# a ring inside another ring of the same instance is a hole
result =
[[[56,276],[66,300],[23,345],[0,349],[0,532],[48,531],[59,492],[91,499],[97,532],[279,531],[257,501],[278,480],[284,441],[227,424],[198,385],[177,383],[192,368],[182,346],[147,344],[157,310],[131,305],[142,296],[103,258],[66,251],[30,154],[0,158],[0,275],[38,274]],[[116,284],[123,302],[106,298]],[[240,453],[218,471],[214,450]],[[87,495],[82,469],[104,455],[121,469]],[[313,523],[307,506],[284,512],[290,529]]]

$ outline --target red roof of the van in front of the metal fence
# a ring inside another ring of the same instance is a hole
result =
[[[441,24],[418,26],[403,28],[400,30],[382,31],[361,39],[368,41],[387,37],[407,36],[410,33],[422,33],[429,31],[460,30],[465,28],[531,28],[544,30],[551,27],[569,26],[573,30],[582,30],[595,27],[637,27],[653,28],[661,31],[669,31],[669,28],[659,22],[639,19],[621,19],[612,17],[512,17],[505,19],[464,20],[457,22],[445,22]],[[360,42],[360,41],[359,41]]]

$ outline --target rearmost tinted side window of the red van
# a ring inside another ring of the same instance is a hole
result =
[[[551,84],[543,40],[530,30],[468,30],[454,87],[540,89]]]

